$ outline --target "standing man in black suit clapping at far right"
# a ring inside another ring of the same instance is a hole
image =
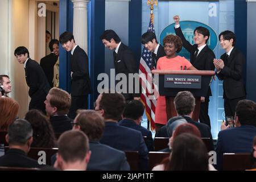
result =
[[[223,80],[223,98],[226,116],[233,116],[239,101],[245,99],[245,85],[243,84],[243,64],[245,57],[236,49],[236,35],[229,30],[221,32],[218,36],[221,47],[226,53],[221,59],[214,59],[214,66],[217,69],[216,75]]]

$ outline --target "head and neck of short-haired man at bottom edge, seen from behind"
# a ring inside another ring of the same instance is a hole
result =
[[[90,160],[89,142],[81,131],[66,131],[58,140],[54,167],[63,171],[86,171]]]

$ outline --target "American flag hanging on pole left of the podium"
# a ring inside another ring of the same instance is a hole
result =
[[[150,23],[148,25],[147,31],[155,32],[154,24],[152,19],[150,18]],[[152,76],[151,76],[151,68],[152,68],[152,56],[151,52],[148,51],[145,47],[143,48],[141,54],[141,60],[139,63],[139,75],[140,77],[146,76],[146,78],[140,79],[142,85],[142,94],[141,94],[141,101],[143,102],[145,109],[146,109],[146,116],[148,121],[150,122],[151,130],[155,129],[155,107],[156,107],[156,100],[154,94],[152,94],[152,90],[156,87],[152,84]],[[153,68],[155,69],[155,68]]]

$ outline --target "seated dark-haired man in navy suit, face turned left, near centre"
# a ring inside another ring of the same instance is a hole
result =
[[[139,152],[139,169],[148,169],[148,150],[139,131],[119,126],[118,119],[125,108],[125,97],[119,93],[101,93],[95,105],[105,119],[105,130],[101,143],[122,151]]]

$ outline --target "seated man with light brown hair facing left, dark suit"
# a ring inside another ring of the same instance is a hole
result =
[[[68,118],[71,107],[71,96],[65,90],[52,88],[46,96],[46,112],[50,115],[50,122],[55,133],[71,130],[73,119]]]

